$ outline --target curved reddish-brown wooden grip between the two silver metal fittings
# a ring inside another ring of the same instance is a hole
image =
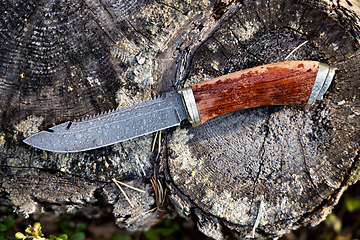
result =
[[[289,61],[230,73],[193,85],[201,123],[233,111],[266,106],[305,106],[319,63]]]

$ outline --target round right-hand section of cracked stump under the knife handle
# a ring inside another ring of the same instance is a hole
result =
[[[171,135],[169,172],[184,194],[174,201],[201,209],[197,215],[207,234],[219,238],[214,229],[227,226],[251,236],[261,201],[256,237],[316,225],[346,188],[359,160],[359,82],[351,79],[359,71],[359,38],[322,12],[324,7],[244,3],[197,51],[186,84],[282,61],[305,41],[288,59],[338,67],[325,99],[311,109],[248,109],[198,128],[184,125]]]

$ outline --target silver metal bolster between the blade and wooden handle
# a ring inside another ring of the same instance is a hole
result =
[[[196,106],[195,98],[191,87],[187,87],[179,90],[179,93],[182,96],[182,100],[188,114],[188,120],[193,125],[197,127],[201,124],[200,115]]]

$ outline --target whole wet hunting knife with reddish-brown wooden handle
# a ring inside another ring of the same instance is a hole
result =
[[[322,100],[334,75],[335,68],[316,61],[258,66],[130,107],[65,122],[24,142],[51,152],[80,152],[179,126],[185,119],[196,127],[214,117],[246,108],[311,106],[315,100]]]

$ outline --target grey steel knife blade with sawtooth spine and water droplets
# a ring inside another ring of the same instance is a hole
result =
[[[51,152],[87,151],[179,126],[186,118],[182,98],[174,91],[89,119],[62,123],[24,142]]]

